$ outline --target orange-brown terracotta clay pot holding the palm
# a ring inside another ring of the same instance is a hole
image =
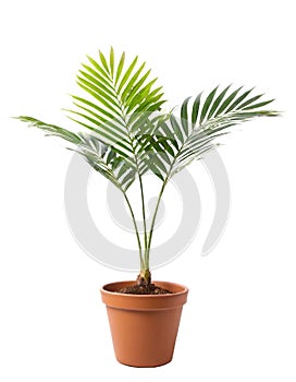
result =
[[[115,356],[123,365],[151,368],[172,360],[183,305],[188,289],[182,285],[153,282],[170,295],[114,293],[135,282],[107,284],[101,288],[107,306]]]

